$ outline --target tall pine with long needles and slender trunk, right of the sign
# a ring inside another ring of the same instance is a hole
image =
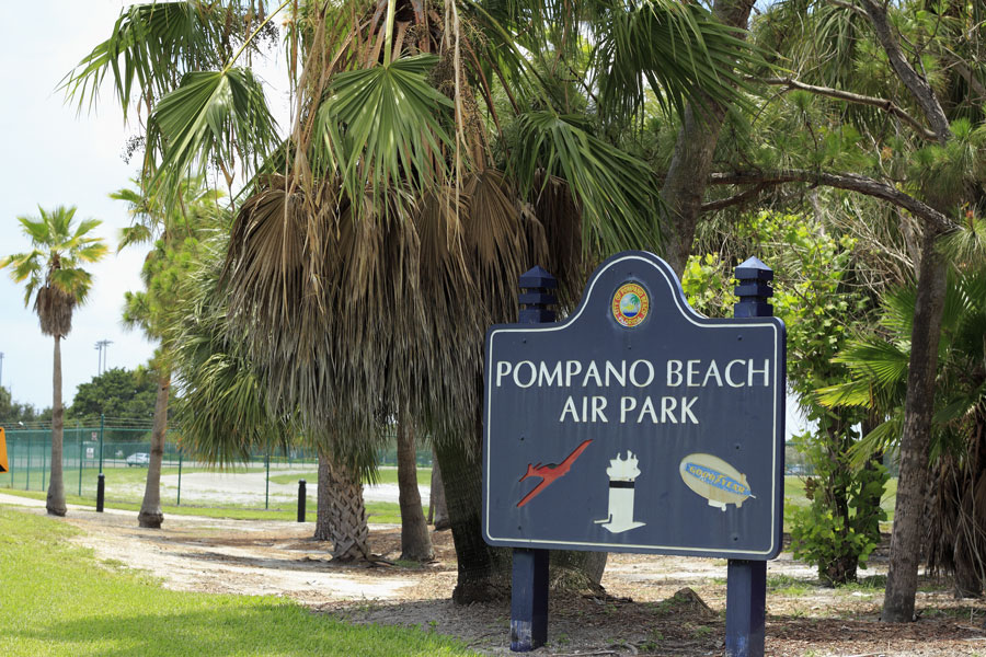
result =
[[[743,9],[750,3],[722,4]],[[886,621],[914,618],[935,345],[945,286],[945,263],[936,244],[965,212],[982,212],[977,162],[983,153],[975,135],[984,120],[983,18],[982,3],[961,1],[937,2],[933,11],[924,0],[769,4],[750,23],[752,41],[769,65],[752,77],[764,97],[755,119],[730,107],[721,131],[733,138],[722,143],[716,130],[704,130],[707,138],[701,128],[689,136],[683,127],[676,155],[681,150],[708,166],[667,176],[681,181],[679,194],[687,201],[668,200],[680,215],[678,228],[687,227],[692,215],[755,201],[791,207],[793,200],[804,207],[821,197],[839,203],[829,193],[814,192],[827,186],[880,199],[892,210],[881,214],[897,218],[898,232],[913,232],[907,241],[914,244],[910,275],[918,295]],[[799,189],[796,183],[812,187]],[[687,249],[692,234],[674,240]]]

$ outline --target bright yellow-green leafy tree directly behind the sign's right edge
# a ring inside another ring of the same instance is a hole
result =
[[[853,326],[868,322],[868,298],[853,285],[856,241],[830,233],[818,218],[759,212],[731,224],[722,243],[730,254],[692,256],[683,287],[689,302],[710,315],[732,308],[731,261],[756,253],[775,269],[771,303],[788,328],[788,385],[806,417],[817,425],[800,437],[815,474],[805,483],[811,504],[792,522],[792,549],[818,567],[829,585],[856,579],[880,543],[880,508],[886,471],[879,463],[855,470],[848,450],[853,426],[863,415],[853,408],[833,412],[815,395],[819,385],[842,383],[849,371],[834,364]]]

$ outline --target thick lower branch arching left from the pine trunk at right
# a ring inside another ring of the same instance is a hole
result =
[[[781,171],[713,173],[709,178],[710,185],[757,185],[763,187],[766,185],[782,185],[784,183],[812,183],[881,198],[909,211],[936,232],[949,232],[959,228],[943,212],[936,210],[909,194],[901,192],[893,185],[855,173],[826,173],[804,169],[786,169]]]

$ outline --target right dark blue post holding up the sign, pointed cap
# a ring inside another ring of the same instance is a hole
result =
[[[752,257],[736,267],[734,318],[773,316],[773,270]],[[764,657],[767,624],[767,562],[729,560],[726,569],[726,657]]]

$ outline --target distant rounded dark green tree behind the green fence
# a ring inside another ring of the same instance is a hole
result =
[[[154,412],[154,381],[153,372],[142,367],[108,369],[79,384],[66,416],[82,423],[99,422],[101,415],[148,419]]]

